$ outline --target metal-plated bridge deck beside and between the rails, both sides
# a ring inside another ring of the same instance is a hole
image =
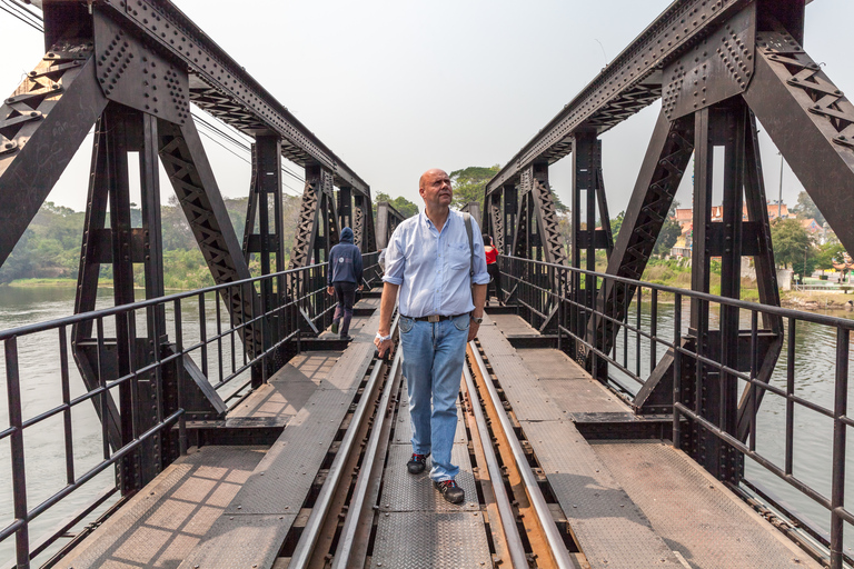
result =
[[[363,308],[376,307],[370,300]],[[312,487],[370,366],[378,316],[363,313],[346,350],[294,358],[230,412],[230,419],[280,422],[271,447],[193,450],[59,567],[287,567],[282,546],[307,516]],[[820,567],[665,441],[602,440],[608,429],[625,432],[625,425],[643,421],[563,352],[515,349],[508,339],[525,336],[537,332],[518,317],[494,315],[479,341],[590,568]],[[467,412],[464,406],[460,415]],[[592,417],[607,426],[596,440],[582,432]],[[401,389],[371,567],[494,566],[465,425],[458,423],[454,456],[466,502],[450,506],[426,473],[406,472],[410,428]]]

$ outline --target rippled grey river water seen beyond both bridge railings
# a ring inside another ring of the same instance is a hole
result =
[[[51,320],[70,315],[73,310],[75,289],[37,287],[37,288],[9,288],[0,287],[0,330],[14,328],[32,322]],[[112,291],[101,290],[98,296],[97,307],[112,306]],[[658,303],[658,336],[672,338],[673,303]],[[634,309],[633,309],[634,310]],[[835,311],[831,316],[851,318],[851,312]],[[688,307],[683,308],[687,327]],[[749,327],[748,315],[743,328]],[[632,321],[635,321],[633,315]],[[643,303],[642,323],[648,330],[649,305]],[[187,312],[183,322],[187,337],[198,335],[198,316]],[[196,331],[191,328],[195,326]],[[713,318],[713,326],[714,318]],[[620,333],[620,338],[622,338]],[[835,330],[826,327],[798,322],[796,335],[795,377],[796,393],[822,406],[833,407],[835,369]],[[186,342],[189,342],[189,338]],[[59,362],[57,353],[57,336],[40,335],[19,346],[21,360],[21,396],[23,399],[24,420],[46,409],[61,402],[59,385]],[[642,349],[646,348],[644,341]],[[629,367],[634,368],[635,341],[629,337],[627,356]],[[618,352],[622,355],[622,340],[618,342]],[[211,350],[214,351],[214,350]],[[664,350],[658,349],[658,355]],[[853,350],[854,351],[854,350]],[[47,356],[47,358],[44,357]],[[210,355],[209,358],[214,358]],[[230,356],[228,356],[230,357]],[[785,348],[773,377],[773,383],[785,388]],[[9,425],[9,410],[6,389],[6,373],[2,350],[0,350],[0,430]],[[214,360],[210,360],[211,362]],[[71,368],[71,397],[81,395],[82,381],[76,373],[73,362]],[[211,370],[216,365],[211,366]],[[642,358],[642,373],[648,373],[648,356]],[[852,382],[854,383],[854,382]],[[854,389],[854,386],[852,386]],[[81,405],[75,408],[72,413],[75,469],[77,476],[97,465],[102,457],[101,427],[92,406]],[[785,401],[779,397],[768,395],[765,397],[758,417],[757,451],[782,466],[785,451]],[[854,437],[850,438],[854,439]],[[794,443],[794,475],[812,486],[823,495],[830,497],[831,482],[831,450],[833,440],[833,425],[830,419],[804,408],[795,410],[795,443]],[[57,416],[39,425],[37,428],[26,431],[24,443],[27,447],[26,475],[28,479],[28,505],[30,508],[38,505],[66,483],[66,457],[62,439],[62,418]],[[13,505],[11,492],[11,463],[9,440],[0,441],[0,528],[7,527],[13,520]],[[854,467],[854,441],[848,441],[848,463]],[[854,468],[846,469],[846,488],[854,488]],[[31,523],[31,541],[37,539],[46,530],[52,529],[69,515],[76,512],[91,500],[99,490],[112,485],[112,473],[107,471],[96,477],[82,489],[73,492],[59,507],[48,510]],[[791,507],[798,510],[818,529],[827,531],[830,516],[826,510],[792,489],[786,482],[771,475],[765,469],[746,460],[746,477],[759,481],[771,489]],[[854,490],[848,490],[848,493]],[[846,501],[846,503],[851,503]],[[107,505],[103,507],[106,508]],[[102,508],[102,509],[103,509]],[[854,543],[854,531],[846,528],[846,543]],[[56,548],[52,548],[56,549]],[[851,555],[851,551],[847,551]],[[0,543],[0,561],[12,559],[14,555],[13,538]],[[44,557],[39,559],[43,562]],[[4,563],[2,567],[7,567]]]

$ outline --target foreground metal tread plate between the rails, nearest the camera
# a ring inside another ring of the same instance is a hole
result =
[[[371,568],[493,567],[484,520],[474,512],[387,512],[377,522]]]

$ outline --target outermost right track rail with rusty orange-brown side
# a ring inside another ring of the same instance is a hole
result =
[[[475,356],[477,367],[484,376],[484,385],[486,386],[486,390],[489,392],[489,398],[493,401],[493,406],[495,406],[498,420],[502,423],[502,428],[508,435],[507,440],[509,441],[510,450],[513,451],[513,458],[516,460],[516,466],[518,467],[522,479],[525,482],[525,489],[528,492],[528,498],[530,499],[532,506],[534,506],[534,510],[537,512],[539,525],[546,535],[546,540],[548,541],[552,555],[555,558],[555,563],[560,569],[574,569],[575,563],[569,558],[569,553],[566,550],[566,545],[564,543],[560,533],[557,531],[557,526],[555,526],[555,521],[552,518],[552,510],[549,510],[548,503],[546,503],[546,499],[543,497],[543,492],[539,490],[539,485],[537,483],[537,479],[534,477],[534,472],[530,471],[530,466],[528,465],[528,460],[525,456],[525,451],[523,450],[522,445],[519,443],[519,440],[516,438],[516,431],[510,423],[510,419],[507,417],[507,413],[502,412],[504,409],[504,403],[498,396],[498,391],[495,389],[495,386],[491,383],[491,381],[487,379],[489,378],[489,371],[486,369],[486,363],[484,363],[484,359],[480,357],[480,352],[477,350],[475,342],[469,342],[469,346],[471,347],[471,353]]]

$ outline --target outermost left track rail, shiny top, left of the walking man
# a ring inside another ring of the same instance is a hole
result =
[[[399,316],[395,317],[395,321],[391,325],[393,335],[397,330],[397,323],[399,319]],[[317,497],[315,507],[311,509],[311,515],[308,517],[306,528],[302,530],[302,535],[300,536],[299,541],[294,549],[294,555],[290,558],[290,565],[288,565],[289,569],[305,569],[308,567],[308,562],[311,560],[315,543],[317,543],[317,539],[320,536],[320,528],[326,520],[326,516],[329,512],[329,507],[332,503],[332,497],[338,489],[338,482],[344,475],[345,462],[347,461],[347,458],[356,442],[356,433],[359,431],[359,427],[361,426],[363,420],[366,418],[365,412],[370,405],[370,393],[374,392],[377,381],[379,381],[379,376],[385,368],[386,363],[383,360],[377,360],[377,363],[374,366],[374,370],[370,372],[368,382],[363,390],[361,399],[359,399],[359,403],[356,406],[356,410],[354,411],[352,418],[350,419],[350,425],[347,428],[344,440],[341,440],[341,445],[335,455],[335,460],[332,460],[332,466],[329,468],[329,473],[326,477],[324,487],[320,489],[320,495]]]

